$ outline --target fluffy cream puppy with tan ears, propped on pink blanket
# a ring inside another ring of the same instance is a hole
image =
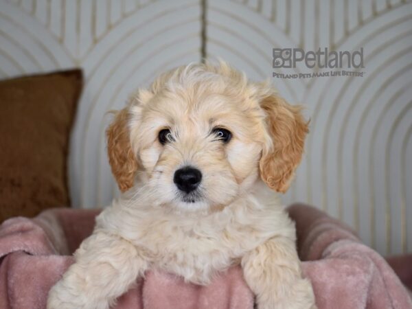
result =
[[[98,216],[47,308],[109,308],[150,269],[209,284],[235,264],[258,308],[315,308],[293,222],[267,201],[301,160],[299,110],[224,62],[179,67],[138,91],[107,130],[127,192]]]

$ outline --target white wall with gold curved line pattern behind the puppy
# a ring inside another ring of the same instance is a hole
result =
[[[363,47],[365,73],[272,78],[273,47]],[[284,203],[325,209],[383,254],[412,251],[411,47],[410,1],[0,0],[0,78],[84,69],[71,139],[73,205],[108,205],[118,194],[106,111],[161,71],[218,56],[306,106],[306,158]]]

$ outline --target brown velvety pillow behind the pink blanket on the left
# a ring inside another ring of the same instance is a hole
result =
[[[80,69],[0,81],[0,222],[70,205],[67,152],[81,90]]]

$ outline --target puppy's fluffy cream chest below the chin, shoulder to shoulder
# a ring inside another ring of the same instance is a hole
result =
[[[294,237],[293,224],[282,207],[259,209],[249,203],[238,201],[205,218],[165,214],[161,209],[108,209],[115,218],[107,217],[105,225],[115,227],[119,236],[144,252],[152,268],[208,284],[216,272],[239,264],[244,255],[280,231]],[[113,220],[121,224],[113,226]]]

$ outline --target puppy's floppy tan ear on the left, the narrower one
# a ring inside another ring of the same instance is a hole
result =
[[[130,145],[128,107],[118,111],[106,131],[108,161],[119,189],[122,192],[133,187],[137,172],[137,158]]]

